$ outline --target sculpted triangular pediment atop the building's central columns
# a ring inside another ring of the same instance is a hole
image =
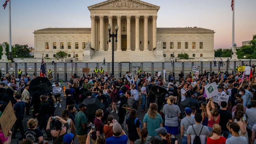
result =
[[[159,6],[143,2],[141,0],[107,0],[92,6],[88,9],[159,9]]]

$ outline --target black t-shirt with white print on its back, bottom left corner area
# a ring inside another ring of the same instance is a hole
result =
[[[41,136],[43,136],[43,132],[40,129],[26,129],[23,138],[30,139],[32,142],[39,142],[38,138]]]

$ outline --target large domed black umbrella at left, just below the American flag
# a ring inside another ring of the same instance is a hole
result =
[[[52,91],[52,83],[48,80],[48,78],[37,77],[30,82],[30,86],[28,92],[30,92],[30,96],[33,96],[35,92],[39,94],[47,94]]]

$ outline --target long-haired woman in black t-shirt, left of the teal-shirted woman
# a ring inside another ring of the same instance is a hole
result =
[[[128,127],[128,137],[130,144],[134,144],[135,140],[141,137],[140,132],[140,121],[137,116],[136,109],[132,109],[129,113],[129,116],[126,118],[126,127]]]

